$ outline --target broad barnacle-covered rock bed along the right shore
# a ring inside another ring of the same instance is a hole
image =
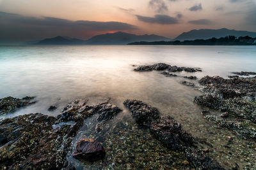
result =
[[[243,138],[256,138],[256,76],[230,79],[205,76],[199,83],[204,95],[195,97],[195,102],[225,113],[219,117],[208,113],[204,115],[207,120],[227,127]]]

